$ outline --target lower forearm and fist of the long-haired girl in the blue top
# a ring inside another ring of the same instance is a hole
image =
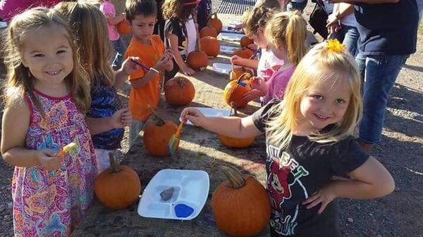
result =
[[[121,129],[127,127],[132,122],[132,115],[129,108],[117,110],[110,117],[85,117],[90,134],[101,134],[111,129]]]

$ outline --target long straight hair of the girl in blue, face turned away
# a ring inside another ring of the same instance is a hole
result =
[[[114,72],[109,63],[111,44],[106,18],[96,6],[87,3],[61,2],[55,9],[68,18],[68,24],[80,47],[82,66],[91,84],[114,85]]]

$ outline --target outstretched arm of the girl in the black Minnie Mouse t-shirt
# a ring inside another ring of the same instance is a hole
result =
[[[195,126],[204,127],[216,134],[231,136],[234,138],[247,138],[259,136],[262,132],[252,122],[251,116],[247,117],[205,117],[196,108],[185,108],[181,117],[190,120]]]

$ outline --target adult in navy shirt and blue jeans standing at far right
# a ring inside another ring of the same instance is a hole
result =
[[[345,0],[329,0],[338,3]],[[416,51],[416,0],[348,0],[354,4],[357,63],[364,78],[359,141],[371,150],[381,139],[386,101],[407,55]]]

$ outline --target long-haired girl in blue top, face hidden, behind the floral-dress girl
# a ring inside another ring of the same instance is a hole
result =
[[[87,113],[92,141],[97,156],[98,172],[108,168],[109,153],[121,148],[123,127],[129,126],[132,117],[123,108],[116,89],[121,89],[135,63],[123,62],[122,68],[112,70],[110,41],[107,39],[106,18],[92,4],[63,2],[56,9],[68,18],[80,47],[80,61],[90,75],[91,105]]]

